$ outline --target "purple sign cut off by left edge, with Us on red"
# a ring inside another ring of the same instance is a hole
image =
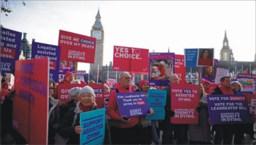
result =
[[[1,27],[1,74],[15,70],[15,60],[19,60],[21,32]]]

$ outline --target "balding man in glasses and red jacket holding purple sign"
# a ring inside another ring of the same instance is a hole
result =
[[[138,144],[139,116],[126,118],[120,116],[117,105],[116,93],[131,93],[131,75],[129,72],[121,72],[120,83],[115,85],[115,90],[110,93],[108,102],[108,115],[111,117],[111,142],[112,144]]]

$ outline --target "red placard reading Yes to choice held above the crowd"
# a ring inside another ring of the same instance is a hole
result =
[[[114,71],[148,73],[148,50],[126,46],[114,46]]]

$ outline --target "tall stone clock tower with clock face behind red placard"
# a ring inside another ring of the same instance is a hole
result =
[[[90,64],[91,74],[94,81],[97,81],[97,72],[99,66],[99,72],[102,69],[103,65],[103,52],[104,52],[104,30],[100,21],[100,10],[95,17],[95,22],[92,26],[91,37],[96,38],[96,50],[94,57],[94,64]],[[99,78],[100,80],[100,78]]]

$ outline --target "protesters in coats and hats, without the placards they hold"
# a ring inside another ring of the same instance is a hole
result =
[[[157,69],[152,68],[152,69]],[[161,78],[159,72],[154,72],[155,79]],[[120,116],[120,108],[116,101],[116,93],[145,92],[147,95],[149,82],[141,80],[139,85],[132,84],[129,72],[121,72],[119,82],[104,83],[104,92],[110,92],[108,109],[105,120],[104,144],[244,144],[244,134],[255,139],[254,123],[248,124],[216,124],[212,125],[207,110],[207,95],[231,95],[241,91],[241,85],[237,81],[231,82],[230,77],[220,79],[216,88],[210,88],[210,82],[202,79],[200,84],[201,95],[196,111],[199,113],[198,124],[173,124],[170,122],[175,112],[171,109],[171,86],[179,84],[176,74],[168,76],[170,86],[166,86],[166,106],[164,120],[146,120],[146,116],[154,114],[154,109],[148,107],[148,114],[126,118]],[[84,81],[74,80],[74,74],[67,71],[65,78],[58,84],[79,83]],[[95,83],[90,81],[90,83]],[[191,83],[189,83],[191,84]],[[80,113],[97,109],[95,92],[92,87],[86,85],[83,88],[71,88],[68,93],[70,100],[61,102],[58,96],[58,85],[49,81],[49,120],[48,120],[48,144],[80,144],[80,134],[83,127],[79,122]],[[17,130],[12,127],[12,101],[15,89],[10,88],[10,82],[2,79],[1,86],[1,144],[28,144]],[[74,116],[77,119],[74,120]],[[65,140],[60,142],[58,139]]]

